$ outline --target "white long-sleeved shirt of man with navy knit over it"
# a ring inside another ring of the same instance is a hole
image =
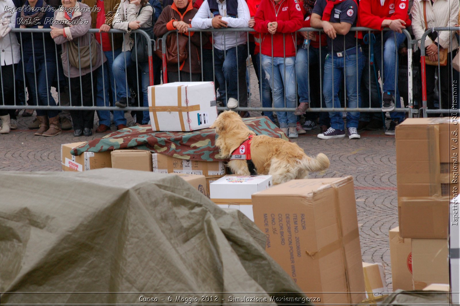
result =
[[[224,0],[220,2],[216,1],[219,6],[219,13],[222,16],[222,20],[228,23],[229,28],[247,28],[249,19],[251,19],[251,14],[249,13],[249,8],[247,7],[246,1],[238,0],[238,16],[228,17],[227,16],[227,3]],[[211,29],[213,14],[209,10],[209,4],[207,0],[203,1],[198,12],[196,12],[195,17],[192,19],[192,28],[196,29]],[[219,50],[228,50],[237,45],[245,44],[247,41],[246,32],[214,32],[214,47]]]

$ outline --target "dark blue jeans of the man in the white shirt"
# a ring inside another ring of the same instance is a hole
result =
[[[236,48],[238,48],[238,58],[236,58]],[[239,45],[225,51],[214,48],[214,74],[219,81],[220,98],[225,106],[229,98],[238,100],[241,107],[247,106],[246,59],[246,45]]]

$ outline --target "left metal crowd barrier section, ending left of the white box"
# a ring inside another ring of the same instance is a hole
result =
[[[31,40],[33,40],[34,38],[34,35],[41,35],[43,37],[43,47],[46,48],[45,46],[45,35],[50,35],[50,32],[51,32],[51,29],[11,29],[10,33],[3,37],[2,39],[9,39],[10,40],[10,44],[11,44],[11,35],[17,35],[17,33],[19,34],[19,37],[17,37],[17,41],[20,45],[20,57],[23,58],[23,53],[24,53],[24,50],[23,50],[23,46],[24,46],[24,41],[23,41],[23,33],[31,33]],[[88,33],[86,35],[92,35],[94,33],[95,36],[99,35],[99,37],[101,38],[102,37],[102,34],[106,33],[106,32],[103,32],[103,33],[100,33],[99,32],[99,29],[89,29]],[[121,35],[123,35],[123,44],[125,43],[125,37],[124,37],[124,34],[126,33],[125,31],[122,31],[122,30],[118,30],[118,29],[110,29],[109,30],[109,35],[111,35],[111,38],[112,38],[112,57],[113,59],[115,59],[115,50],[114,50],[114,40],[113,40],[113,37],[114,37],[114,34],[118,34],[120,33]],[[152,46],[155,47],[155,40],[151,39],[151,37],[145,32],[143,31],[142,29],[137,29],[137,30],[132,30],[131,33],[136,33],[138,35],[143,35],[145,38],[146,38],[146,41],[148,43],[148,55],[149,55],[149,60],[148,60],[148,65],[149,65],[149,78],[150,78],[150,85],[153,85],[154,83],[154,73],[153,73],[153,56],[152,56]],[[138,35],[134,35],[135,37],[135,41],[134,43],[132,44],[132,50],[137,50],[137,39],[138,39]],[[89,39],[91,40],[91,37],[89,37]],[[102,41],[102,39],[101,39]],[[34,66],[34,71],[36,71],[36,66],[38,65],[38,63],[36,63],[35,61],[35,50],[34,50],[34,44],[32,43],[32,54],[33,54],[33,66]],[[63,95],[62,95],[62,90],[65,88],[65,87],[69,87],[70,86],[70,77],[66,77],[66,76],[63,76],[63,78],[65,79],[66,82],[64,82],[63,84],[63,81],[62,81],[62,78],[60,79],[59,77],[59,73],[62,74],[62,69],[60,70],[59,69],[59,66],[62,67],[62,61],[60,59],[60,49],[61,47],[59,45],[54,45],[55,49],[54,49],[54,56],[55,56],[55,60],[56,60],[56,64],[57,64],[57,67],[58,67],[58,71],[57,71],[57,78],[56,78],[56,82],[55,86],[52,86],[56,89],[56,92],[57,92],[57,106],[52,106],[50,105],[50,98],[48,96],[48,105],[28,105],[26,102],[29,100],[30,97],[30,93],[29,93],[29,90],[27,90],[27,77],[26,77],[26,73],[25,73],[25,67],[24,65],[22,65],[22,70],[19,71],[19,73],[22,74],[23,76],[23,84],[22,84],[22,87],[23,87],[23,92],[20,92],[19,94],[17,94],[17,82],[15,81],[14,83],[14,91],[15,91],[15,95],[14,95],[14,104],[5,104],[5,103],[1,103],[0,104],[0,109],[33,109],[33,110],[37,110],[37,109],[43,109],[43,110],[148,110],[148,107],[135,107],[135,106],[129,106],[126,107],[126,108],[119,108],[119,107],[116,107],[116,106],[98,106],[96,104],[96,97],[93,96],[93,99],[92,99],[92,105],[91,106],[81,106],[83,105],[83,101],[80,101],[81,102],[81,105],[79,106],[76,106],[76,105],[72,105],[72,95],[69,95],[69,105],[60,105],[61,104],[61,101],[63,99]],[[11,50],[12,50],[12,46],[11,46]],[[104,51],[102,49],[102,46],[101,46],[101,56],[103,56],[104,54]],[[37,53],[37,55],[39,55]],[[91,57],[91,48],[90,48],[90,57]],[[54,60],[54,59],[53,59]],[[45,61],[46,61],[46,52],[45,52]],[[69,64],[69,52],[67,52],[67,62]],[[106,65],[107,63],[103,63],[103,65]],[[45,67],[45,75],[46,75],[46,83],[48,83],[48,71],[47,71],[47,68],[46,68],[46,65],[43,65]],[[125,53],[125,66],[126,66],[126,53]],[[134,88],[134,93],[136,94],[136,97],[138,98],[138,104],[139,105],[143,105],[142,104],[142,101],[140,101],[140,96],[142,94],[142,88],[140,88],[140,84],[142,82],[140,82],[140,77],[139,77],[139,66],[138,66],[138,63],[137,63],[137,58],[136,58],[136,63],[135,63],[135,73],[136,75],[134,76],[134,79],[135,79],[135,86],[133,86]],[[67,67],[69,69],[69,66]],[[92,70],[92,64],[90,64],[90,69]],[[3,88],[3,80],[4,78],[6,77],[12,77],[13,79],[16,80],[16,74],[17,72],[15,71],[16,69],[13,69],[13,75],[3,75],[0,73],[0,80],[1,80],[1,86]],[[109,77],[109,76],[106,76],[104,75],[104,70],[103,69],[103,78],[106,78],[106,77]],[[80,68],[80,71],[81,71],[81,68]],[[128,69],[125,69],[125,80],[126,82],[128,81],[132,81],[132,75],[130,73],[128,73]],[[93,80],[93,79],[92,79]],[[116,86],[116,82],[115,82],[115,78],[113,80],[109,80],[109,84],[110,82],[114,82],[115,83],[115,86]],[[29,84],[29,87],[30,86],[35,86],[35,104],[38,104],[38,88],[37,88],[37,76],[36,76],[36,73],[35,73],[35,80],[34,80],[34,83],[35,84]],[[93,82],[92,82],[93,84]],[[103,82],[103,92],[106,92],[107,90],[109,90],[109,88],[105,88],[105,83]],[[82,84],[81,84],[81,78],[80,78],[80,88],[81,88],[81,91],[83,90],[89,90],[90,88],[82,88]],[[93,92],[93,87],[91,87],[91,90]],[[21,89],[20,89],[21,90]],[[70,89],[69,89],[70,90]],[[67,90],[69,92],[69,90]],[[127,87],[127,97],[130,96],[129,94],[129,87]],[[49,92],[49,91],[48,91]],[[2,91],[2,94],[3,94],[3,91]],[[115,101],[116,101],[116,92],[113,92],[112,93],[113,95],[115,95]],[[23,96],[23,101],[18,101],[18,96]],[[28,98],[29,96],[29,98]],[[65,98],[64,98],[65,99]],[[5,98],[2,97],[2,101],[5,101]],[[21,104],[21,102],[23,102],[24,104]],[[67,104],[67,102],[64,102],[64,104]],[[74,103],[76,104],[76,103]],[[109,101],[106,101],[106,95],[104,94],[104,105],[107,105],[109,104]]]

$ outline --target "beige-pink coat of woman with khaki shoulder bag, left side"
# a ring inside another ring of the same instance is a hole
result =
[[[88,8],[86,4],[83,4],[80,2],[76,2],[75,6],[78,6],[79,8],[80,7]],[[86,20],[88,22],[86,22]],[[98,52],[97,52],[98,60],[96,62],[96,65],[92,67],[88,67],[86,69],[80,69],[80,68],[76,68],[70,65],[68,58],[67,58],[67,42],[70,40],[74,40],[75,43],[77,43],[77,40],[78,40],[78,43],[80,43],[80,46],[89,45],[90,35],[88,35],[88,30],[91,28],[91,13],[81,12],[81,10],[75,9],[74,14],[72,15],[72,26],[71,27],[64,28],[63,23],[60,23],[59,21],[67,21],[67,19],[64,17],[62,6],[60,6],[59,9],[57,9],[54,12],[53,26],[55,28],[64,29],[64,32],[66,35],[66,37],[64,37],[63,35],[59,35],[56,38],[54,38],[54,42],[57,45],[62,45],[61,59],[62,59],[62,66],[63,66],[65,76],[75,78],[80,75],[86,75],[98,69],[102,65],[102,63],[105,63],[105,61],[107,61],[107,58],[105,57],[104,53],[102,53],[101,55],[101,46],[96,41],[96,43],[98,44]]]

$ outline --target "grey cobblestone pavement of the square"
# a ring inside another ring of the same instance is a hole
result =
[[[253,72],[253,71],[252,71]],[[252,105],[260,105],[257,82],[251,77]],[[251,113],[259,115],[259,113]],[[132,118],[126,114],[128,125]],[[34,136],[27,126],[34,117],[18,117],[18,129],[0,134],[0,171],[61,171],[60,145],[100,138],[73,137],[73,131],[63,131],[55,137]],[[97,117],[95,127],[97,127]],[[115,127],[112,125],[112,130]],[[94,131],[94,130],[93,130]],[[109,132],[107,132],[109,133]],[[316,127],[295,140],[308,155],[325,153],[331,166],[311,178],[351,175],[355,183],[362,260],[382,263],[389,289],[391,263],[388,231],[398,225],[396,190],[396,151],[394,136],[385,136],[383,130],[363,131],[361,139],[328,139],[316,137]],[[27,188],[24,185],[24,188]]]

